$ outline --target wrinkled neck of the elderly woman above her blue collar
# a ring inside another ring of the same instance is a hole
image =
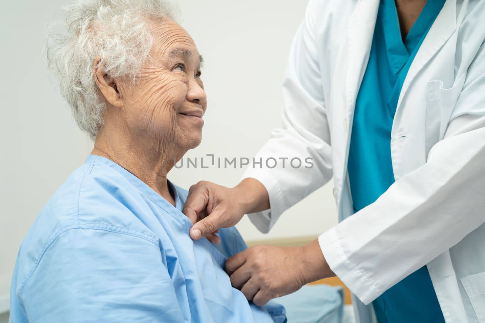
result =
[[[163,147],[163,144],[156,147],[147,141],[133,140],[123,135],[106,136],[100,133],[91,154],[108,158],[127,169],[165,200],[175,205],[167,183],[167,173],[175,164],[175,149],[172,145]]]

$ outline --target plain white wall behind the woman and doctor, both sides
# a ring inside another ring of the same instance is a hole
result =
[[[0,9],[0,301],[7,297],[18,246],[36,215],[91,142],[77,129],[43,49],[48,22],[68,1],[3,1]],[[281,81],[302,0],[180,0],[182,25],[205,58],[209,106],[202,144],[188,156],[251,158],[280,126]],[[173,169],[184,187],[199,180],[236,185],[243,169]],[[317,235],[337,223],[330,185],[291,208],[267,235],[244,218],[246,240]],[[1,303],[1,302],[0,302]],[[0,308],[1,311],[1,308]]]

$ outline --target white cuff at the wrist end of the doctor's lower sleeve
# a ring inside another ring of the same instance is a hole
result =
[[[382,291],[372,281],[364,270],[358,267],[346,256],[340,243],[342,241],[336,227],[322,233],[318,237],[323,257],[337,277],[365,305],[369,305],[382,294]]]

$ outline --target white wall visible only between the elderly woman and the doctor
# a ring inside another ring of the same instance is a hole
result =
[[[208,110],[202,144],[188,156],[253,157],[280,127],[281,83],[288,52],[307,1],[181,0],[181,24],[205,59],[202,79]],[[174,169],[189,187],[198,180],[236,185],[243,169]],[[237,225],[246,240],[318,235],[337,223],[332,183],[286,212],[263,235],[247,218]]]

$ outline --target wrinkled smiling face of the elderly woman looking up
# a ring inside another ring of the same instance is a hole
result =
[[[152,34],[151,60],[134,86],[123,86],[124,119],[132,135],[185,152],[202,138],[201,58],[187,31],[169,18],[152,23]]]

